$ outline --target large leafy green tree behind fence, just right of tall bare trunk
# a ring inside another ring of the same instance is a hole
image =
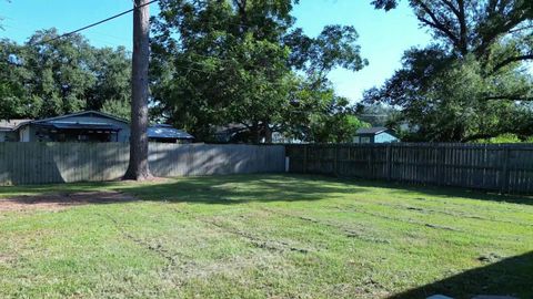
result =
[[[214,125],[239,123],[251,142],[270,142],[302,81],[313,78],[303,85],[319,90],[332,69],[366,63],[351,27],[326,27],[316,39],[291,30],[294,2],[160,1],[152,42],[158,109],[200,140]]]

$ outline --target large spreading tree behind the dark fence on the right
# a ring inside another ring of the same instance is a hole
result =
[[[376,0],[390,10],[398,1]],[[533,7],[525,0],[410,0],[433,44],[410,49],[402,69],[366,102],[402,109],[396,118],[420,141],[469,142],[502,133],[533,134],[510,115],[531,115]]]

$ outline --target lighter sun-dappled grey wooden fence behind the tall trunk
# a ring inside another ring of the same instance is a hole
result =
[[[155,176],[278,173],[284,146],[153,143]],[[129,161],[127,143],[0,143],[0,185],[98,182],[120,178]]]

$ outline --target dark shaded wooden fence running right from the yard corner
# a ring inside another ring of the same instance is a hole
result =
[[[533,145],[288,145],[292,173],[533,193]]]

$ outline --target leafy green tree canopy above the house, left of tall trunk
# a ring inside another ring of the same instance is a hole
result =
[[[130,54],[95,49],[79,34],[36,32],[19,45],[0,41],[1,118],[48,117],[82,110],[128,115]]]

